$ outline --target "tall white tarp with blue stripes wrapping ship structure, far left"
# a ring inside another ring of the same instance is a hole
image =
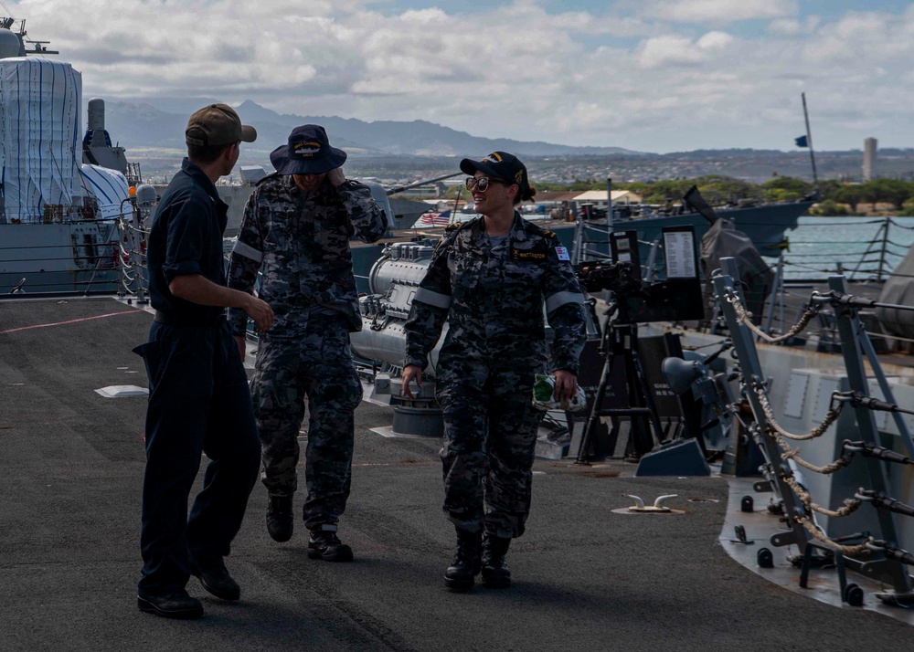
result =
[[[81,203],[85,195],[80,176],[81,95],[82,76],[69,63],[0,59],[7,221],[40,223],[45,205],[69,207],[74,199]]]

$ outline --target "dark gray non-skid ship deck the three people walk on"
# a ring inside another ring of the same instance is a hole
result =
[[[910,612],[870,594],[863,608],[822,601],[834,571],[814,571],[813,589],[801,592],[783,563],[768,579],[738,563],[728,552],[740,517],[728,498],[740,487],[728,478],[637,478],[622,460],[537,460],[527,532],[508,557],[513,586],[449,593],[442,575],[453,530],[441,514],[439,442],[378,435],[372,428],[390,426],[392,413],[368,403],[356,410],[340,529],[354,563],[309,560],[301,521],[291,542],[272,542],[258,484],[228,558],[240,602],[220,602],[192,578],[204,619],[143,614],[135,584],[145,399],[97,390],[146,386],[131,349],[150,320],[110,298],[0,302],[5,650],[723,652],[900,649],[910,636]],[[616,513],[632,505],[629,494],[649,504],[676,494],[668,504],[684,513]],[[750,538],[760,536],[762,517],[745,516]],[[769,581],[775,573],[787,579]]]

